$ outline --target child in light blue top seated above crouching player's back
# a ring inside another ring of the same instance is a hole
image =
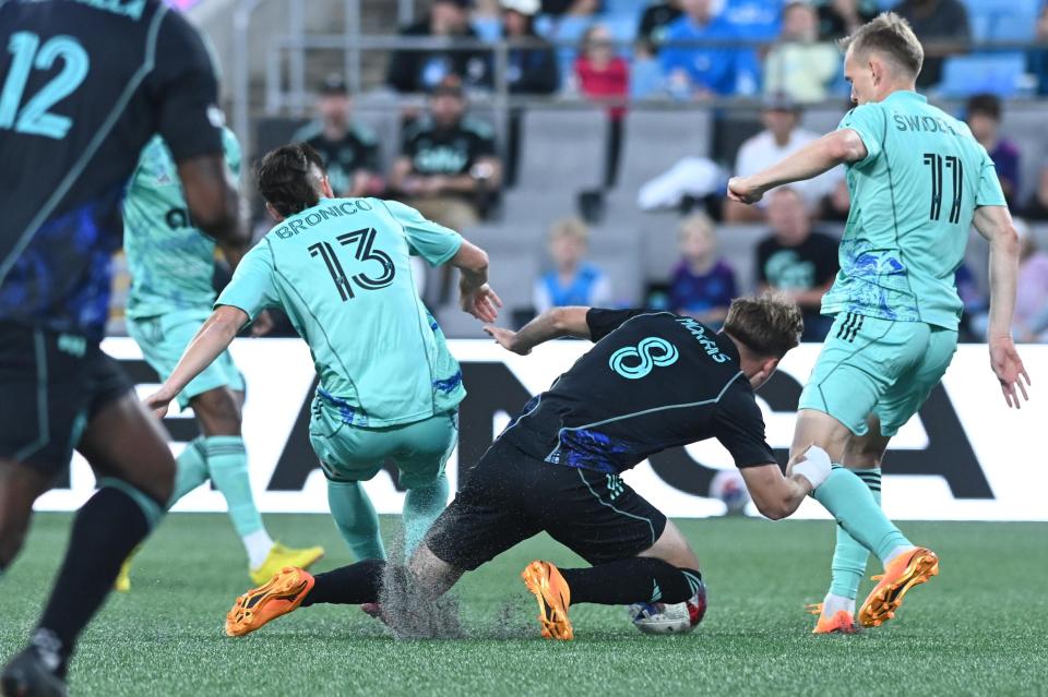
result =
[[[549,255],[553,268],[535,281],[536,312],[568,305],[611,305],[607,274],[585,261],[588,238],[586,224],[576,217],[561,218],[550,226]]]

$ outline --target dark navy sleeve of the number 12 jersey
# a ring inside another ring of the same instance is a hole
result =
[[[156,127],[175,161],[223,152],[218,81],[204,41],[178,12],[168,11],[156,39],[156,65],[146,89]]]

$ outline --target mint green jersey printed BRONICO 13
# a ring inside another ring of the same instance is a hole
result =
[[[412,423],[466,393],[409,257],[437,266],[461,245],[457,232],[403,204],[321,199],[245,255],[215,305],[252,320],[271,307],[287,313],[320,376],[317,408],[355,426]]]

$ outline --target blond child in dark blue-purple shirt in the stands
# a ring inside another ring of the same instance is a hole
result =
[[[669,286],[670,310],[720,328],[738,292],[735,272],[717,254],[717,232],[706,215],[681,221],[680,255]]]

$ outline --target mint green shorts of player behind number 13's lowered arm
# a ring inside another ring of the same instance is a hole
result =
[[[128,334],[142,349],[145,362],[159,373],[160,380],[167,380],[178,365],[182,351],[210,316],[210,310],[180,310],[155,317],[128,319]],[[237,370],[229,351],[223,351],[186,385],[186,389],[178,394],[178,406],[184,409],[193,397],[219,387],[243,392],[243,375]]]

